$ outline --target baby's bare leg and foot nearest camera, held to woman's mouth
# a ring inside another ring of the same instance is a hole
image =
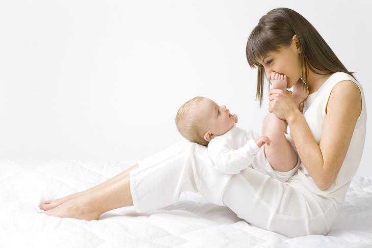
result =
[[[271,74],[273,88],[286,91],[287,79],[278,73]],[[265,156],[273,169],[286,172],[297,164],[297,154],[285,138],[287,122],[279,119],[274,113],[269,113],[263,119],[262,134],[271,140],[270,146],[265,146]]]

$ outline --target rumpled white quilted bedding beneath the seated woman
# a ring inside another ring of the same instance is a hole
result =
[[[266,231],[193,192],[163,209],[137,213],[123,207],[98,221],[38,214],[41,200],[85,190],[130,165],[51,160],[26,171],[0,161],[0,247],[372,247],[371,176],[355,176],[327,236],[288,238]]]

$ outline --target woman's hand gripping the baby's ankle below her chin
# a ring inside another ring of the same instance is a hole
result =
[[[269,112],[274,113],[282,120],[288,118],[298,111],[295,101],[292,97],[291,91],[283,92],[279,89],[271,89],[269,91]]]

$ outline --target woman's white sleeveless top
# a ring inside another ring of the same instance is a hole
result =
[[[306,171],[304,164],[301,162],[298,172],[293,176],[294,179],[301,180],[303,184],[315,195],[333,198],[337,203],[344,201],[346,191],[349,188],[351,179],[358,170],[359,162],[362,158],[367,112],[365,106],[364,92],[362,86],[351,75],[344,72],[333,73],[324,84],[314,93],[310,94],[304,102],[303,116],[309,126],[316,143],[321,141],[323,125],[326,118],[326,105],[333,87],[340,81],[350,80],[355,82],[359,87],[362,97],[362,110],[354,128],[353,136],[350,142],[346,157],[343,160],[341,169],[335,182],[327,190],[319,189],[309,173]],[[293,138],[288,126],[287,139],[293,143]],[[288,137],[289,136],[289,137]]]

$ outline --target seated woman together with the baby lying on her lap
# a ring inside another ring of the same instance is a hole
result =
[[[195,97],[176,115],[185,139],[97,186],[42,201],[43,213],[92,220],[124,206],[163,208],[180,192],[194,191],[266,230],[288,237],[327,234],[363,153],[363,88],[291,9],[262,16],[246,52],[258,68],[260,105],[264,78],[272,84],[263,135],[238,128],[226,106]],[[286,90],[292,87],[293,93]]]

